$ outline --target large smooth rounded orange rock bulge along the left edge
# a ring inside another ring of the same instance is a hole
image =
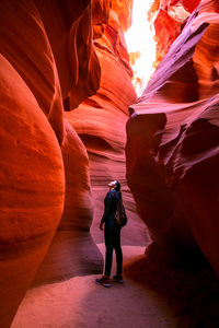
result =
[[[64,209],[57,138],[25,82],[0,57],[0,326],[9,327]]]

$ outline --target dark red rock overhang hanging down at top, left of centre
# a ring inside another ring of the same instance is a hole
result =
[[[100,85],[100,65],[93,47],[91,0],[33,0],[56,59],[65,109],[77,107]]]

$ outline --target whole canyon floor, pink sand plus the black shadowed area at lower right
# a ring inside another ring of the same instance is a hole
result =
[[[106,289],[95,283],[101,274],[85,274],[33,288],[11,328],[217,328],[219,283],[211,268],[172,267],[148,256],[147,236],[127,246],[122,233],[124,284]],[[103,241],[103,234],[93,237]],[[97,247],[104,257],[104,243]]]

